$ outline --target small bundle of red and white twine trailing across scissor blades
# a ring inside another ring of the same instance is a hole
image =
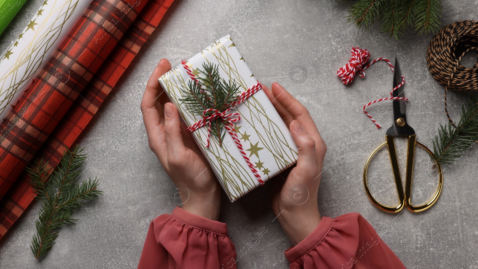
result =
[[[350,57],[350,60],[348,61],[348,63],[345,66],[343,66],[343,67],[341,67],[340,69],[337,70],[337,76],[340,78],[340,80],[342,80],[342,82],[345,85],[348,85],[353,81],[357,71],[360,72],[359,73],[360,78],[365,77],[365,72],[364,72],[365,69],[369,68],[371,65],[373,65],[374,63],[376,63],[380,60],[384,60],[385,62],[387,62],[387,64],[390,66],[392,72],[394,70],[393,65],[391,64],[390,60],[388,60],[386,58],[382,58],[382,57],[377,58],[377,59],[371,61],[369,64],[367,64],[367,62],[369,61],[369,58],[370,58],[370,52],[366,49],[360,49],[359,47],[352,47],[352,53],[351,54],[352,54],[352,56]],[[397,85],[397,87],[393,88],[390,91],[391,97],[380,98],[378,100],[371,101],[371,102],[369,102],[369,103],[367,103],[366,105],[363,106],[363,112],[370,118],[370,120],[372,120],[372,122],[377,126],[378,129],[380,129],[380,127],[381,127],[380,124],[377,123],[377,121],[374,120],[372,118],[372,116],[370,116],[370,114],[367,111],[365,111],[365,108],[367,108],[369,105],[371,105],[373,103],[384,101],[384,100],[404,100],[404,101],[408,101],[408,98],[405,98],[405,97],[393,97],[393,91],[402,87],[403,83],[405,83],[405,78],[402,76],[402,83],[400,83],[399,85]]]

